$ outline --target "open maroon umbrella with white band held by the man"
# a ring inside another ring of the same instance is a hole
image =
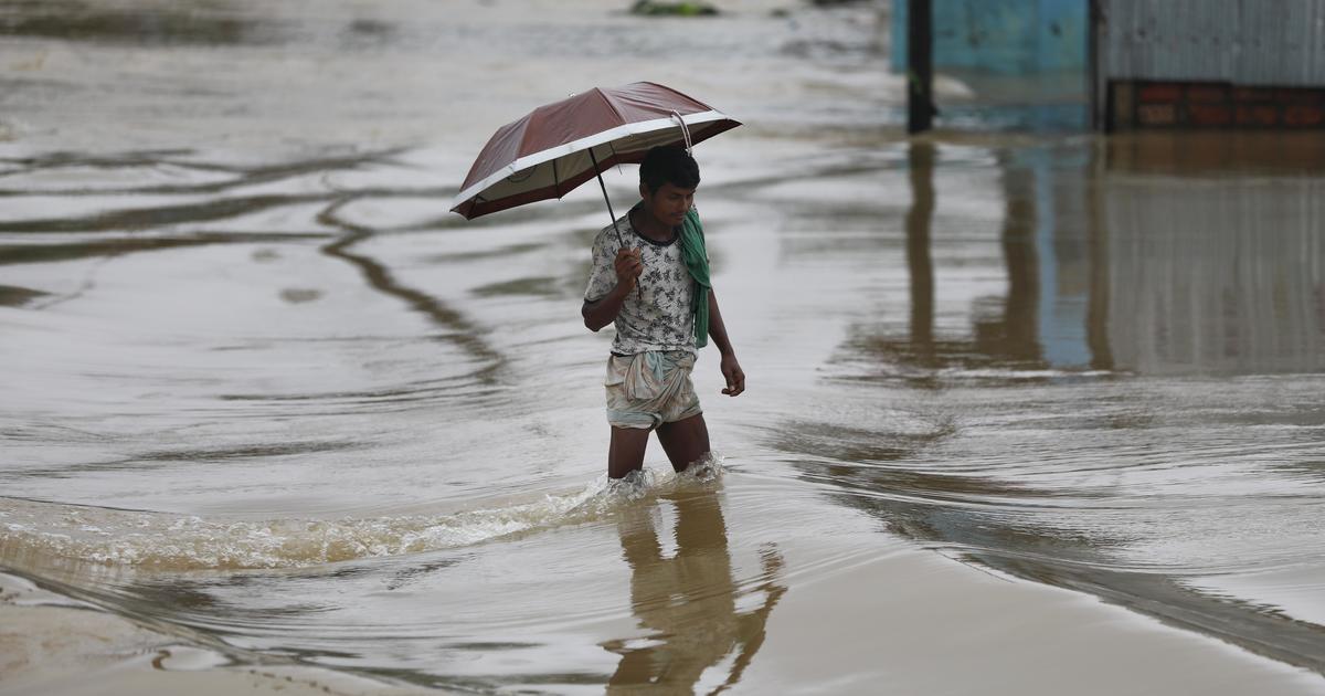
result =
[[[472,220],[562,198],[595,176],[602,186],[603,170],[639,163],[653,146],[689,147],[739,125],[704,102],[653,82],[595,87],[539,106],[498,129],[469,170],[452,211]],[[611,202],[607,208],[611,213]]]

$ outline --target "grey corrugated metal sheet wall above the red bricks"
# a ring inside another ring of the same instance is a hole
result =
[[[1325,0],[1101,0],[1106,80],[1325,85]]]

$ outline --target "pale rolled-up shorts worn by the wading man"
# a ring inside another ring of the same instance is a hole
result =
[[[617,428],[656,428],[704,412],[690,383],[694,354],[684,350],[612,355],[607,359],[607,422]]]

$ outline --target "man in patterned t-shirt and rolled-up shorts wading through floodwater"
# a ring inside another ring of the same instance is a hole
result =
[[[745,373],[709,284],[704,229],[693,208],[698,186],[700,166],[685,150],[649,150],[640,164],[641,200],[594,240],[580,314],[592,331],[616,326],[604,382],[612,479],[644,468],[649,431],[657,431],[677,472],[709,455],[690,370],[710,337],[722,354],[722,394],[745,391]]]

